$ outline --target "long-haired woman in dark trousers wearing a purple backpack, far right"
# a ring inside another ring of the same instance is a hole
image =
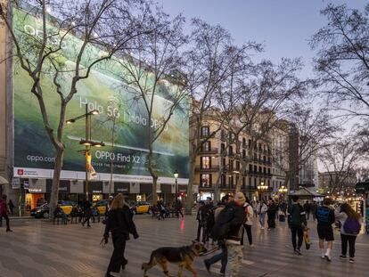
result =
[[[355,241],[357,240],[357,234],[360,232],[361,216],[349,206],[344,203],[335,211],[335,217],[340,221],[340,246],[341,246],[341,259],[346,259],[347,252],[349,255],[349,263],[355,263]]]

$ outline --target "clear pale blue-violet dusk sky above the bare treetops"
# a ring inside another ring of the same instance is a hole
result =
[[[302,57],[307,68],[303,76],[311,72],[314,52],[307,39],[326,21],[320,14],[328,3],[344,4],[363,10],[367,1],[326,0],[158,0],[171,15],[183,12],[190,19],[199,17],[211,24],[228,29],[235,43],[249,40],[263,43],[263,57],[274,62],[282,57]]]

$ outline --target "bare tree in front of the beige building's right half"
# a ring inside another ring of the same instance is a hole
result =
[[[232,112],[228,113],[227,127],[228,144],[235,144],[235,156],[229,162],[234,163],[236,160],[239,165],[234,170],[238,176],[236,191],[241,191],[242,177],[247,174],[247,167],[253,161],[258,142],[267,143],[277,118],[283,118],[286,107],[297,101],[306,91],[307,82],[297,77],[301,68],[299,59],[283,59],[279,65],[262,61],[251,67],[248,70],[250,72],[243,71],[238,83],[231,83],[227,101],[230,102]],[[242,134],[248,134],[251,138],[249,152],[242,150]]]

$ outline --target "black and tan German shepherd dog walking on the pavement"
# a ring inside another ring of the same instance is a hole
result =
[[[173,277],[172,275],[169,275],[168,272],[169,263],[178,265],[178,277],[182,277],[184,268],[193,273],[194,277],[198,277],[197,273],[193,269],[193,259],[194,257],[201,256],[202,253],[207,251],[208,250],[204,247],[204,244],[198,241],[193,241],[192,245],[181,248],[167,247],[153,250],[150,262],[143,263],[143,277],[148,277],[147,271],[155,265],[160,265],[167,277]]]

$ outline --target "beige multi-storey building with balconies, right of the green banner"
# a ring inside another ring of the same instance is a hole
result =
[[[217,111],[212,111],[217,112]],[[201,148],[195,162],[194,185],[199,186],[198,199],[207,197],[219,200],[228,192],[234,193],[236,183],[251,200],[258,199],[257,186],[264,183],[272,185],[272,152],[265,142],[252,143],[252,137],[245,132],[238,137],[241,145],[240,155],[236,152],[234,138],[229,137],[227,126],[211,115],[204,116],[201,122],[201,138],[207,140]],[[190,135],[194,134],[194,121],[190,120]],[[250,147],[254,145],[251,151]],[[241,160],[242,159],[242,160]],[[242,164],[247,163],[246,170],[241,172]],[[270,190],[264,192],[270,195]],[[266,195],[264,195],[266,197]]]

